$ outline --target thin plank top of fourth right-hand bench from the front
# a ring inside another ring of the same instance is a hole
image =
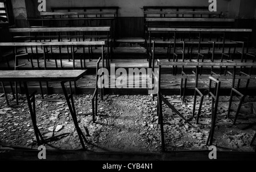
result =
[[[194,14],[194,15],[221,15],[222,12],[209,11],[144,11],[144,14]]]

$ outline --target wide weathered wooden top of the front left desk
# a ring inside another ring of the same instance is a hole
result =
[[[77,81],[87,70],[1,70],[0,82]]]

